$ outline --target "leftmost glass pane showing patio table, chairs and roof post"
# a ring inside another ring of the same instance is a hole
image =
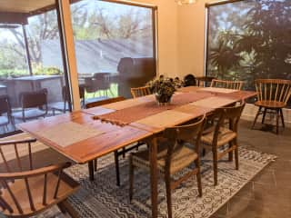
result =
[[[0,16],[0,134],[68,110],[56,10],[38,6]]]

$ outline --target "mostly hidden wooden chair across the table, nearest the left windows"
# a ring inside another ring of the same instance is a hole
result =
[[[95,106],[101,106],[104,104],[111,104],[111,103],[115,103],[115,102],[120,102],[120,101],[124,101],[125,97],[123,96],[118,96],[115,98],[109,98],[109,99],[105,99],[102,101],[97,101],[97,102],[93,102],[93,103],[89,103],[89,104],[85,104],[85,108],[92,108]],[[128,146],[126,148],[123,148],[120,151],[115,151],[115,172],[116,172],[116,185],[120,186],[120,173],[119,173],[119,156],[123,155],[125,157],[125,153],[138,148],[138,146],[140,146],[141,144],[135,144],[132,146]],[[89,167],[89,171],[92,171],[92,169],[90,168],[90,164],[88,164]],[[95,159],[94,161],[94,170],[97,170],[97,160]]]

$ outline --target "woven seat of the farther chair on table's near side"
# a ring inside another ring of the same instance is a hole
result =
[[[210,130],[210,131],[205,131],[206,134],[203,134],[201,136],[201,141],[204,144],[209,144],[212,145],[213,143],[213,137],[215,134],[214,129]],[[236,133],[231,131],[230,129],[226,128],[226,127],[220,127],[219,128],[219,134],[218,134],[218,139],[217,139],[217,147],[220,147],[224,144],[229,143],[230,141],[232,141],[233,139],[236,138]]]

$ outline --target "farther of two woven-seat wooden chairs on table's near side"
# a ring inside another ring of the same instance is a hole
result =
[[[241,114],[245,108],[245,103],[233,107],[223,107],[216,109],[211,115],[213,126],[204,131],[201,137],[203,144],[212,146],[214,183],[217,184],[217,163],[225,154],[228,154],[229,161],[233,161],[233,152],[236,156],[236,170],[238,170],[238,144],[237,129]],[[229,127],[226,127],[226,121]],[[218,150],[228,144],[228,148],[219,152]]]

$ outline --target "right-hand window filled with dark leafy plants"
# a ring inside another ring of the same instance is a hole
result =
[[[206,74],[243,80],[291,79],[291,1],[246,0],[209,5]]]

